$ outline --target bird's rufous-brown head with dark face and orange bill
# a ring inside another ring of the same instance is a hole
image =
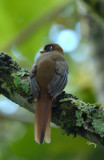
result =
[[[61,54],[64,54],[63,49],[55,43],[50,43],[45,45],[44,49],[40,51],[40,53],[45,53],[45,52],[52,52],[52,51],[57,51]]]

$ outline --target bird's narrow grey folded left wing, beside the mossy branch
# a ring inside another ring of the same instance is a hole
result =
[[[36,67],[37,67],[36,65],[33,65],[32,70],[30,72],[30,78],[31,78],[30,89],[31,89],[31,92],[33,93],[33,95],[35,97],[38,97],[40,88],[39,88],[39,85],[38,85],[36,77],[35,77],[36,76]]]

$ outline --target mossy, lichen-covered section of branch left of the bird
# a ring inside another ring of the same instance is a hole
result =
[[[20,106],[25,104],[25,108],[34,111],[29,84],[29,72],[21,68],[8,54],[0,53],[0,93]]]

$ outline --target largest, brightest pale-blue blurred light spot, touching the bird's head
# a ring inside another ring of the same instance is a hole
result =
[[[49,38],[51,42],[58,43],[64,52],[72,52],[80,43],[80,23],[76,24],[75,30],[66,29],[63,25],[53,25],[49,31]]]

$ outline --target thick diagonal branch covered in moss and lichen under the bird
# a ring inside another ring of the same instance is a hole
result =
[[[29,71],[4,53],[0,53],[0,94],[35,112]],[[101,105],[82,102],[63,92],[53,102],[52,122],[60,126],[67,135],[80,135],[104,146],[104,115]]]

